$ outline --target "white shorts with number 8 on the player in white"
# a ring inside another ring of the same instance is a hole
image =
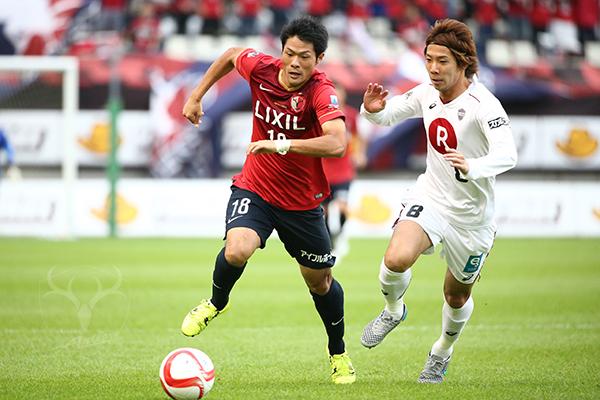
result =
[[[459,282],[471,284],[479,276],[487,255],[494,244],[495,225],[465,229],[448,223],[435,207],[419,199],[403,202],[398,221],[414,221],[429,236],[431,246],[423,254],[433,254],[442,243],[440,254],[450,272]]]

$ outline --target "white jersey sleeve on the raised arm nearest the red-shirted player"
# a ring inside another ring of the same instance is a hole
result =
[[[422,117],[420,98],[427,84],[421,84],[408,92],[394,96],[386,102],[385,108],[378,113],[370,113],[361,104],[360,113],[377,125],[394,125],[408,118]]]

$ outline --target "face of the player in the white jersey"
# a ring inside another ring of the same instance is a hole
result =
[[[427,46],[425,66],[429,79],[440,92],[442,100],[454,99],[468,86],[465,69],[458,67],[454,55],[446,46]]]

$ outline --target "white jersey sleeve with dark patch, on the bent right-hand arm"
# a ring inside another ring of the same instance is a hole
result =
[[[510,121],[500,102],[482,107],[478,123],[489,144],[489,151],[483,157],[468,158],[467,179],[489,178],[499,175],[517,164],[517,149],[512,135]]]

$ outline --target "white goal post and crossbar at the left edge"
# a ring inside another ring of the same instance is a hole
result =
[[[75,182],[78,163],[76,154],[77,135],[75,118],[79,109],[79,60],[68,56],[0,56],[0,72],[62,73],[62,180],[65,201],[65,237],[75,234]]]

